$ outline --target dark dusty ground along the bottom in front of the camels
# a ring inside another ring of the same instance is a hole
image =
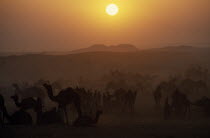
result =
[[[102,116],[97,126],[5,126],[0,138],[209,138],[210,120],[170,120],[140,118],[138,116]]]

